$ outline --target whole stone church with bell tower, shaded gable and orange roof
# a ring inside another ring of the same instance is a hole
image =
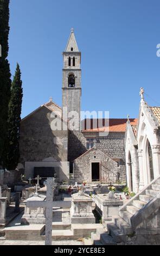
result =
[[[63,52],[62,74],[62,107],[57,106],[50,98],[49,102],[21,121],[21,157],[18,166],[24,169],[27,179],[34,178],[37,174],[44,178],[56,174],[59,181],[68,181],[69,174],[73,173],[78,182],[125,182],[125,159],[128,154],[124,147],[125,141],[128,142],[126,127],[127,131],[132,132],[131,127],[140,123],[138,119],[109,119],[109,125],[106,126],[104,119],[81,121],[81,52],[73,29]],[[65,117],[64,109],[71,113],[70,117]],[[78,113],[75,122],[78,129],[63,129],[63,126],[69,126],[74,112]],[[88,121],[89,129],[86,125]],[[56,125],[59,128],[61,126],[61,129],[54,129]],[[135,133],[132,133],[133,147],[137,150]],[[140,141],[142,137],[138,139]],[[132,157],[137,159],[138,156]],[[127,156],[127,162],[128,159]],[[138,187],[137,170],[138,167],[135,166],[135,190]],[[127,179],[130,179],[128,176],[127,174]],[[140,179],[140,182],[145,184],[145,180]]]

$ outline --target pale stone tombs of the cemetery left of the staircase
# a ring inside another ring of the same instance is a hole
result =
[[[1,178],[0,241],[44,241],[51,245],[52,241],[81,240],[84,244],[85,241],[92,244],[91,234],[97,230],[106,233],[103,225],[106,219],[99,214],[105,207],[103,203],[109,200],[110,205],[117,208],[123,204],[123,200],[115,199],[114,195],[113,199],[106,199],[107,194],[103,198],[104,194],[99,194],[99,184],[89,186],[75,182],[62,190],[56,178],[47,178],[43,184],[41,180],[37,175],[33,184],[32,179],[25,181],[21,175],[12,191]],[[106,188],[109,192],[107,185],[101,189]],[[101,201],[98,201],[96,198],[100,196]]]

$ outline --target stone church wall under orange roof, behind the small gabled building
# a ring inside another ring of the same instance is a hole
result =
[[[68,133],[68,161],[74,161],[84,154],[86,149],[86,138],[94,137],[95,145],[112,159],[118,161],[118,180],[126,182],[125,150],[124,139],[125,133],[110,132],[106,137],[99,137],[98,133],[89,132],[71,132]],[[88,163],[89,164],[89,163]]]

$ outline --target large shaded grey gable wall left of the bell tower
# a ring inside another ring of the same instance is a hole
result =
[[[67,131],[52,131],[52,112],[41,107],[21,121],[20,162],[39,162],[49,157],[67,161]]]

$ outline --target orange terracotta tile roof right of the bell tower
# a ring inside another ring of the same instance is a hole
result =
[[[86,129],[87,122],[91,121],[91,129]],[[109,119],[109,127],[105,126],[105,119],[82,120],[82,132],[125,132],[127,119]],[[131,125],[136,126],[138,119],[130,118]],[[96,124],[96,125],[95,125]]]

